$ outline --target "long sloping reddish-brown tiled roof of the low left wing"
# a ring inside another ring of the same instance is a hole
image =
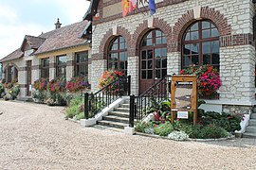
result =
[[[46,32],[45,34],[41,34],[39,37],[45,38],[46,41],[38,48],[34,54],[43,54],[71,46],[84,44],[84,39],[80,39],[79,36],[87,23],[88,21],[85,20],[73,25],[64,26]]]

